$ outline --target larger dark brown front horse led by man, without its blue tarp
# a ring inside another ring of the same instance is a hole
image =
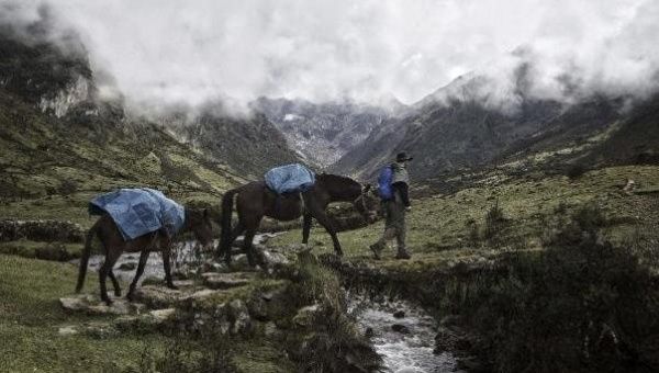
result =
[[[362,187],[350,178],[326,173],[316,176],[315,184],[301,193],[302,199],[297,194],[278,196],[263,181],[250,182],[230,190],[222,197],[222,236],[217,257],[224,255],[226,263],[231,263],[231,245],[236,237],[245,233],[245,253],[249,264],[254,267],[252,241],[263,217],[269,216],[286,222],[297,219],[302,215],[304,215],[302,242],[309,241],[311,222],[312,218],[315,218],[332,236],[336,255],[343,256],[336,229],[325,213],[325,208],[332,202],[351,202],[367,223],[371,223],[377,216],[378,203],[373,196],[368,195],[369,190],[369,184]],[[238,225],[232,229],[234,195],[237,195]]]

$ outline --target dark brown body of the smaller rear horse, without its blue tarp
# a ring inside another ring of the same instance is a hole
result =
[[[183,223],[183,227],[181,228],[181,233],[190,230],[194,234],[196,238],[204,247],[209,246],[212,242],[212,225],[211,219],[209,217],[209,212],[206,210],[201,211],[186,208],[186,219]],[[121,231],[119,230],[119,227],[116,226],[112,217],[108,214],[104,214],[101,217],[99,217],[99,219],[87,233],[85,250],[82,251],[82,258],[80,259],[80,270],[78,273],[78,284],[76,286],[76,293],[79,293],[82,290],[82,285],[85,284],[87,264],[89,262],[89,256],[91,255],[91,242],[94,236],[101,240],[103,251],[105,253],[105,260],[103,261],[103,264],[99,270],[99,281],[101,283],[101,299],[103,299],[108,305],[110,305],[112,301],[110,301],[110,298],[108,297],[108,290],[105,289],[105,278],[110,276],[110,280],[112,280],[112,284],[114,285],[114,295],[121,296],[119,281],[116,281],[116,278],[112,272],[112,268],[114,267],[114,263],[116,262],[119,257],[124,251],[141,252],[139,263],[137,264],[137,272],[135,273],[135,278],[131,283],[129,294],[126,294],[129,301],[133,301],[133,293],[135,292],[135,286],[137,286],[137,281],[144,272],[144,267],[146,265],[148,255],[152,251],[163,252],[165,281],[167,282],[168,287],[176,289],[174,282],[171,281],[171,268],[169,263],[171,237],[169,237],[169,235],[164,229],[160,229],[126,241],[121,235]]]

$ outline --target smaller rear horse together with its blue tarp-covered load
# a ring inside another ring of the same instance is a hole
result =
[[[99,270],[99,281],[101,299],[107,304],[112,303],[105,287],[108,276],[114,285],[114,294],[121,296],[121,289],[112,268],[122,252],[141,252],[137,272],[126,295],[132,301],[152,251],[161,251],[167,286],[175,289],[169,251],[172,236],[177,231],[192,231],[203,246],[209,246],[213,239],[211,219],[206,210],[185,208],[153,189],[120,189],[98,195],[89,203],[89,213],[100,217],[87,234],[76,292],[82,290],[91,244],[94,237],[98,237],[105,255],[105,260]]]

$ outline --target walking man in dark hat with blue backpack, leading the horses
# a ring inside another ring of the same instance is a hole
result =
[[[373,245],[370,246],[376,259],[380,259],[380,252],[387,246],[387,241],[395,238],[398,244],[398,253],[395,259],[410,259],[410,253],[405,249],[405,212],[411,210],[407,189],[410,177],[407,174],[407,162],[412,158],[405,152],[399,152],[395,156],[395,162],[391,163],[391,191],[381,193],[382,207],[384,210],[386,223],[384,234]],[[380,185],[388,187],[388,185]]]

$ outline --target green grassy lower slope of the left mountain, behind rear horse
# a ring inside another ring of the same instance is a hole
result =
[[[0,92],[0,218],[89,226],[89,199],[115,188],[148,185],[181,202],[217,204],[223,191],[244,181],[156,127],[148,137],[112,129],[103,142],[11,94]]]

